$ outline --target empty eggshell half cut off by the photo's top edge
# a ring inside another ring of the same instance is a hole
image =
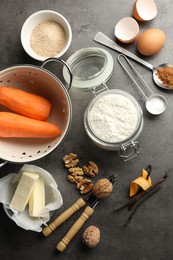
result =
[[[138,21],[150,21],[157,15],[157,6],[154,0],[136,0],[133,5],[133,16]]]

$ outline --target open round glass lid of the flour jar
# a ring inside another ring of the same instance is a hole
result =
[[[97,87],[108,81],[113,73],[113,58],[102,48],[80,49],[66,63],[72,71],[72,86],[80,89]],[[63,77],[68,83],[70,78],[66,67],[63,67]]]

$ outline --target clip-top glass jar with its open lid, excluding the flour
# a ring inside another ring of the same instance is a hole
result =
[[[84,127],[91,140],[100,148],[118,151],[120,157],[124,158],[124,160],[129,160],[139,154],[139,143],[136,140],[143,128],[143,113],[133,96],[122,90],[109,90],[105,85],[113,73],[114,61],[111,54],[102,48],[83,48],[72,54],[66,63],[72,71],[72,87],[81,90],[92,90],[95,95],[84,114]],[[69,73],[66,67],[63,68],[63,76],[66,83],[69,83]],[[90,114],[94,104],[108,94],[119,94],[126,98],[133,104],[136,113],[137,122],[134,130],[127,138],[118,142],[107,141],[98,136],[90,121]]]

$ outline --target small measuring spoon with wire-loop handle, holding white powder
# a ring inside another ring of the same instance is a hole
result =
[[[127,64],[131,67],[131,69],[135,72],[135,74],[139,77],[139,79],[144,83],[144,85],[147,87],[147,89],[150,91],[151,95],[147,97],[147,95],[144,93],[144,91],[141,89],[139,84],[136,82],[136,80],[132,77],[130,72],[127,70],[125,65],[122,63],[121,58],[124,58],[124,60],[127,62]],[[118,55],[118,61],[120,65],[123,67],[123,69],[126,71],[126,73],[129,75],[129,77],[133,80],[135,85],[138,87],[140,92],[143,94],[143,96],[146,99],[145,106],[148,112],[152,115],[160,115],[162,114],[166,107],[167,107],[167,101],[166,99],[159,94],[154,94],[151,88],[148,86],[148,84],[145,82],[145,80],[141,77],[141,75],[137,72],[135,67],[130,63],[130,61],[127,59],[127,57],[123,54]]]

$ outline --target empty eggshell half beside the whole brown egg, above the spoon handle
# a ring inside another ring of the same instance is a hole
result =
[[[115,37],[123,42],[133,42],[139,33],[139,25],[132,17],[124,17],[115,26]]]

